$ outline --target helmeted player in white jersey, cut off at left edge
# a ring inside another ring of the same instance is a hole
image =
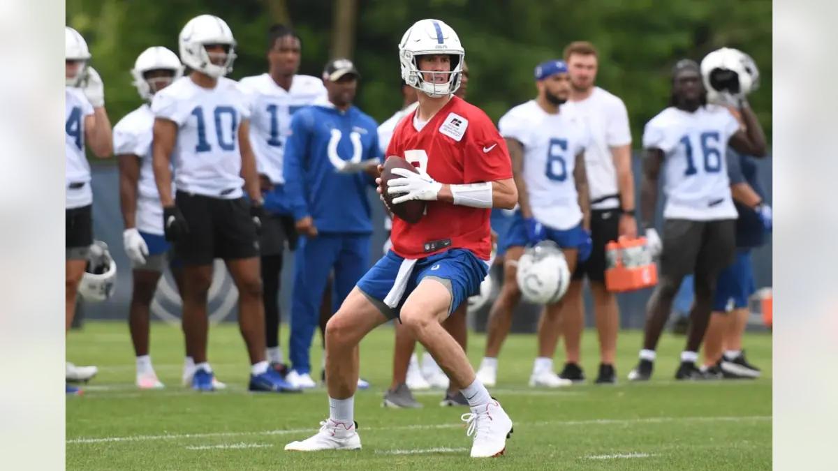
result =
[[[105,86],[101,77],[87,65],[90,50],[78,31],[65,27],[65,329],[70,330],[75,315],[75,298],[85,273],[87,256],[93,243],[93,191],[91,166],[85,157],[85,142],[98,158],[111,156],[111,122],[105,110]],[[77,367],[67,363],[66,379],[90,380],[95,366]],[[67,385],[68,394],[78,389]]]

